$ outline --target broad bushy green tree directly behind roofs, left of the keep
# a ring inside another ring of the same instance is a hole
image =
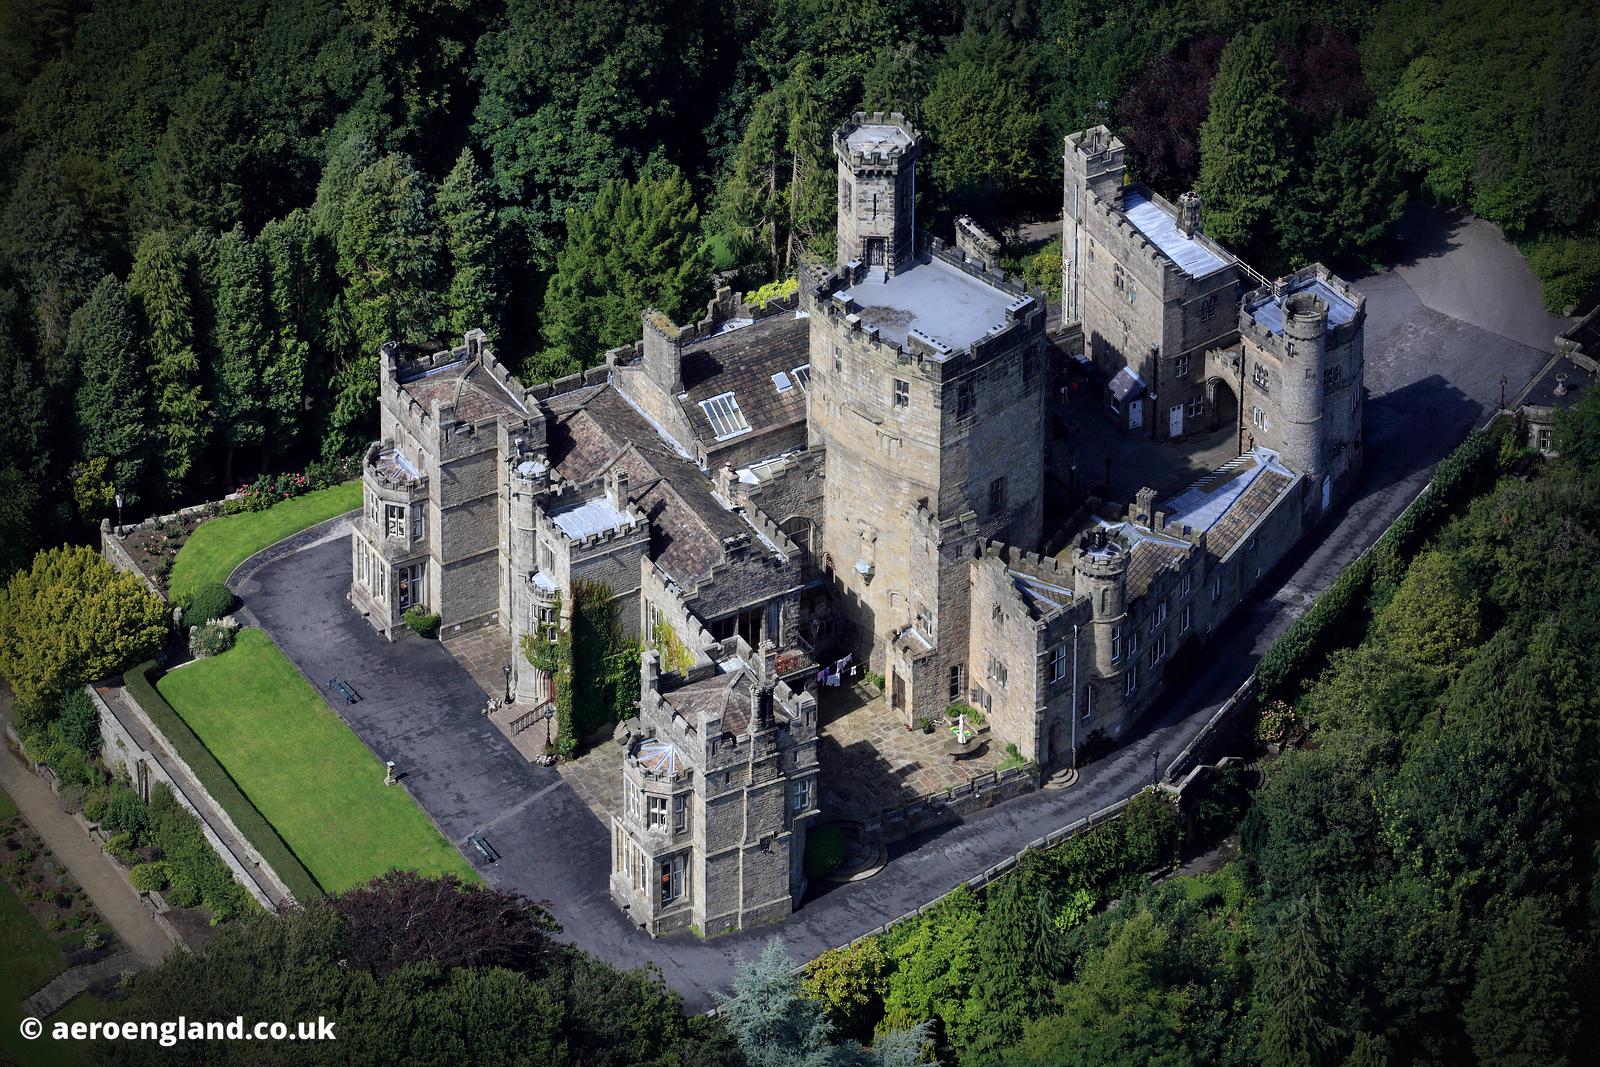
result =
[[[699,210],[680,171],[606,182],[587,211],[566,219],[566,246],[544,296],[546,349],[536,374],[597,366],[606,349],[638,338],[646,309],[686,322],[709,283]]]

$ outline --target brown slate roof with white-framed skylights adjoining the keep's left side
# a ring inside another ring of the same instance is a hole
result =
[[[811,362],[810,320],[779,312],[749,326],[723,330],[683,352],[683,392],[678,406],[694,427],[694,437],[706,450],[728,440],[717,432],[701,408],[702,400],[731,392],[750,424],[750,434],[805,421],[805,389],[794,382],[790,371]],[[789,389],[779,390],[773,374],[789,378]]]

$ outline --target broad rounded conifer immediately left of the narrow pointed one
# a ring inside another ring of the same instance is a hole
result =
[[[355,178],[338,246],[346,309],[368,352],[438,333],[438,216],[427,176],[408,157],[386,155]]]

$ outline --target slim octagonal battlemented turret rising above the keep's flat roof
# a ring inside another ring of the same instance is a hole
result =
[[[922,138],[899,112],[856,112],[834,133],[838,158],[837,266],[893,277],[917,258],[917,155]]]

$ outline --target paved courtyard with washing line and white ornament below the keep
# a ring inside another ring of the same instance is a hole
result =
[[[918,797],[965,785],[995,769],[1005,755],[998,745],[955,760],[944,752],[946,728],[931,734],[906,729],[904,718],[866,683],[824,688],[819,697],[822,813],[829,819],[861,822]]]

